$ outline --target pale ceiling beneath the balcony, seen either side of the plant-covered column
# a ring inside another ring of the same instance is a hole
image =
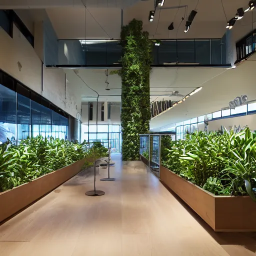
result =
[[[81,88],[83,102],[95,101],[97,94],[89,89],[74,73],[73,69],[63,69],[66,72],[67,86],[76,84]],[[150,101],[180,100],[193,89],[214,76],[226,70],[225,68],[152,68],[150,74]],[[108,70],[110,73],[111,70]],[[78,69],[78,74],[88,86],[99,94],[99,101],[121,101],[121,79],[117,74],[108,75],[109,82],[106,90],[105,69]],[[175,96],[177,91],[178,96]],[[181,95],[181,96],[180,96]]]

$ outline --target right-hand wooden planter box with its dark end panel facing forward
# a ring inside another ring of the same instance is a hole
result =
[[[249,196],[214,195],[163,166],[160,180],[214,231],[256,231],[256,202]]]

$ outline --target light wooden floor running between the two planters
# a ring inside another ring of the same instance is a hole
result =
[[[0,255],[255,255],[255,233],[214,233],[142,162],[112,156],[115,181],[80,173],[0,226]],[[255,213],[256,214],[256,213]]]

